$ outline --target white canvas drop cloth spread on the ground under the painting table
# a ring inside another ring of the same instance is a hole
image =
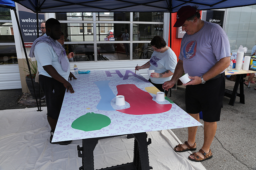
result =
[[[50,144],[46,107],[0,111],[0,170],[78,170],[82,159],[77,145]],[[180,140],[171,130],[147,132],[149,164],[153,170],[205,170],[201,163],[188,160],[191,152],[176,153]],[[99,140],[94,150],[94,168],[115,166],[133,160],[134,139],[126,136]]]

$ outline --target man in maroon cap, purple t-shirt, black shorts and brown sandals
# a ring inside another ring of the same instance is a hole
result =
[[[186,85],[185,103],[189,115],[199,121],[203,113],[204,144],[199,152],[188,159],[202,162],[212,158],[210,146],[220,121],[220,111],[225,90],[225,69],[230,64],[230,46],[227,34],[218,25],[200,19],[195,7],[183,6],[177,12],[174,27],[186,31],[180,45],[179,62],[172,79],[164,82],[168,90],[185,72],[190,82]],[[188,141],[174,148],[175,152],[196,150],[196,127],[188,128]]]

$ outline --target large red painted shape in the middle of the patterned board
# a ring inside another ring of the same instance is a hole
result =
[[[130,115],[146,115],[167,112],[172,108],[172,104],[158,104],[153,101],[153,97],[136,85],[117,85],[117,95],[123,95],[125,101],[130,104],[129,108],[117,110]]]

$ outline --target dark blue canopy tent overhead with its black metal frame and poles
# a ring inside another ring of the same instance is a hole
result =
[[[27,52],[21,34],[15,4],[19,3],[36,13],[37,30],[39,30],[38,13],[51,12],[177,12],[185,5],[197,5],[199,10],[223,9],[256,4],[255,0],[0,0],[0,7],[14,11],[18,23],[23,50],[30,72]],[[172,17],[170,17],[171,20]],[[171,23],[171,21],[170,21]],[[37,35],[39,36],[39,34]],[[33,81],[32,81],[33,82]],[[32,83],[33,85],[33,83]],[[34,85],[33,85],[34,88]],[[35,92],[35,89],[34,89]],[[36,94],[35,94],[36,95]],[[36,97],[37,98],[37,97]],[[40,102],[39,97],[39,102]],[[38,111],[41,111],[36,100]]]

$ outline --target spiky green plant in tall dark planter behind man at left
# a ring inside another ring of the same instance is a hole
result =
[[[37,71],[37,63],[36,63],[36,61],[35,62],[32,62],[30,60],[28,60],[28,61],[29,61],[29,65],[30,65],[30,71],[31,71],[32,79],[33,79],[33,84],[34,84],[35,91],[36,91],[36,96],[35,96],[32,81],[31,81],[31,78],[30,78],[29,70],[28,70],[28,68],[23,68],[23,70],[28,73],[26,75],[26,83],[27,83],[27,86],[28,86],[28,90],[31,93],[33,99],[36,99],[36,97],[37,97],[37,99],[39,99],[39,97],[42,98],[44,96],[44,92],[40,88],[39,83],[35,82],[36,71]],[[27,63],[27,62],[25,62],[25,63]],[[40,89],[41,89],[41,94],[40,94]]]

